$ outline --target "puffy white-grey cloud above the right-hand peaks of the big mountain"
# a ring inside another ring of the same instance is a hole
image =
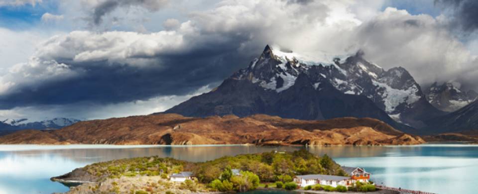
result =
[[[350,42],[384,68],[405,67],[419,83],[453,80],[474,67],[474,56],[441,17],[388,7],[358,26]]]

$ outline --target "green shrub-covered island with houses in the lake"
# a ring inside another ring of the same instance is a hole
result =
[[[305,149],[225,156],[207,162],[187,162],[156,156],[100,162],[51,178],[81,193],[211,193],[256,189],[322,192],[375,192],[370,173],[343,167],[329,156]],[[382,191],[380,193],[394,193]]]

